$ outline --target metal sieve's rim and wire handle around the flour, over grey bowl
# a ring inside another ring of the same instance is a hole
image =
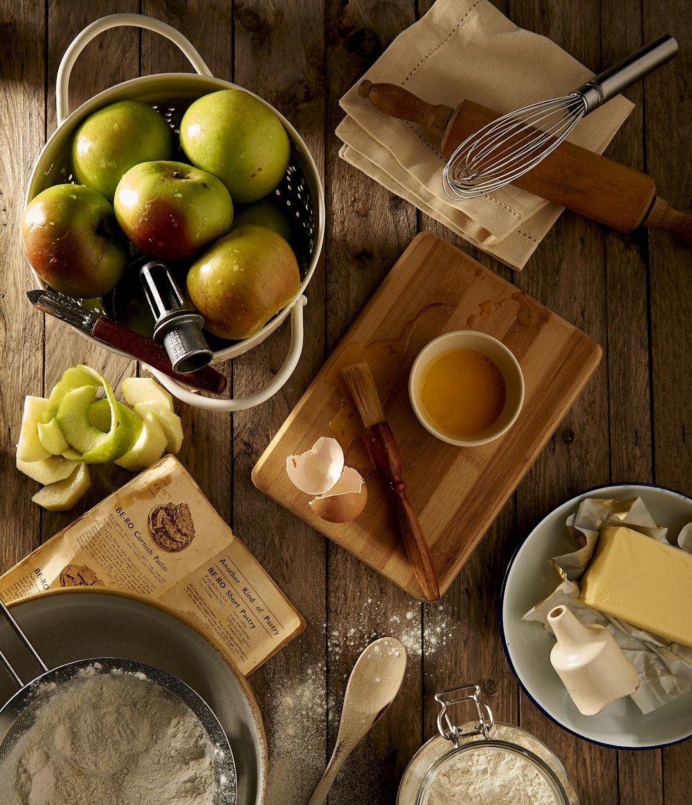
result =
[[[50,708],[51,698],[70,685],[79,685],[94,675],[117,676],[132,680],[135,685],[151,685],[162,696],[182,703],[195,717],[208,738],[211,752],[213,793],[210,805],[236,805],[237,773],[233,749],[220,721],[206,701],[182,679],[161,668],[141,663],[138,660],[114,657],[96,657],[74,660],[55,668],[47,667],[39,652],[31,643],[22,627],[0,600],[0,613],[23,644],[23,649],[41,669],[39,676],[24,683],[10,659],[0,648],[0,663],[18,685],[19,690],[0,708],[0,789],[9,791],[14,786],[13,749],[35,725],[43,708]]]

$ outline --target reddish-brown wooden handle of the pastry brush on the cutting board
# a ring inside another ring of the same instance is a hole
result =
[[[421,524],[406,495],[402,456],[389,423],[380,422],[366,428],[365,444],[374,468],[389,484],[406,555],[423,592],[423,600],[428,603],[438,601],[440,593],[435,566]]]

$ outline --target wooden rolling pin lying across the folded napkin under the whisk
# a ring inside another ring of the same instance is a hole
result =
[[[467,137],[500,117],[473,101],[455,109],[432,105],[394,84],[363,81],[359,93],[390,117],[425,126],[439,137],[447,159]],[[647,226],[692,244],[692,214],[681,213],[657,196],[651,176],[571,142],[562,142],[513,184],[620,232]]]

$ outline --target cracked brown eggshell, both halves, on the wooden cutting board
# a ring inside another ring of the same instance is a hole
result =
[[[311,509],[329,522],[349,522],[365,508],[365,481],[355,469],[344,467],[344,451],[336,439],[322,436],[310,450],[288,456],[286,473],[301,492],[315,495]]]

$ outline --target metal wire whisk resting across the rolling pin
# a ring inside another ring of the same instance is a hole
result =
[[[466,138],[447,162],[447,196],[471,199],[512,183],[554,151],[585,115],[677,52],[672,36],[660,36],[569,95],[524,106],[488,123]]]

